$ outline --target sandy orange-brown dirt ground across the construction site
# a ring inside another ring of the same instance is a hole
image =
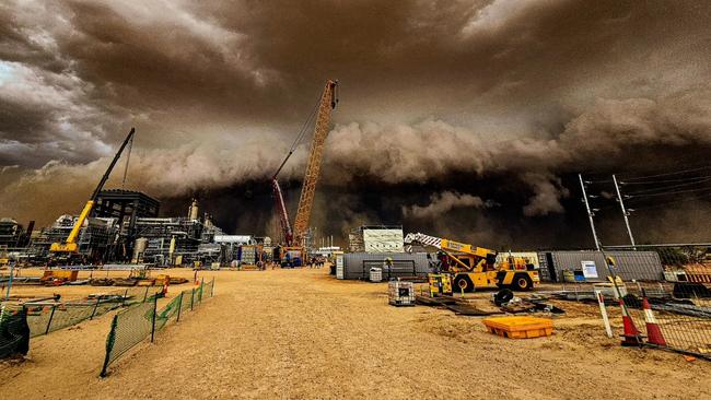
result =
[[[110,314],[34,338],[26,361],[1,363],[1,398],[711,398],[711,363],[623,349],[596,306],[557,303],[568,313],[552,337],[510,340],[486,332],[481,317],[388,306],[386,284],[326,270],[200,274],[217,278],[215,296],[107,378],[98,372]],[[91,292],[49,293],[65,290]]]

